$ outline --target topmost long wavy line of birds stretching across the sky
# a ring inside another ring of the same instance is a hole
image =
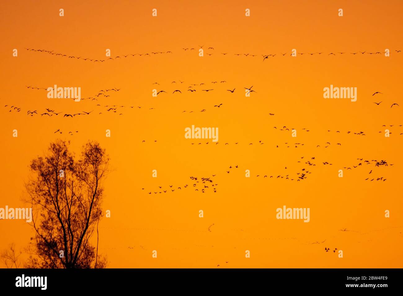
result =
[[[189,50],[189,52],[194,51],[195,53],[197,53],[198,50],[203,49],[203,47],[204,46],[199,46],[199,48],[182,48],[182,50],[184,52],[187,52]],[[106,62],[106,61],[111,61],[111,60],[113,61],[113,60],[117,60],[117,59],[121,60],[123,58],[135,57],[135,56],[139,56],[139,57],[141,57],[141,56],[143,56],[143,57],[149,56],[150,57],[152,55],[155,56],[155,55],[158,55],[158,54],[172,54],[171,51],[166,51],[166,52],[153,51],[153,52],[150,52],[151,54],[150,53],[142,53],[142,54],[139,54],[139,53],[132,54],[131,53],[131,54],[122,54],[120,56],[114,56],[114,57],[106,56],[105,59],[95,59],[95,58],[83,58],[81,56],[71,56],[69,54],[62,54],[62,53],[54,52],[54,50],[39,50],[39,49],[33,49],[33,48],[25,48],[25,49],[27,51],[29,51],[29,52],[42,52],[42,53],[46,53],[46,54],[50,54],[50,55],[54,55],[54,56],[60,56],[62,58],[65,57],[65,58],[68,58],[68,59],[84,60],[84,61],[89,61],[89,62],[94,62],[94,63],[96,63],[96,62]],[[212,56],[215,53],[213,47],[208,47],[207,51],[211,51],[211,52],[206,52],[206,54],[208,56]],[[401,50],[395,50],[395,52],[397,54],[399,54],[401,52]],[[268,59],[269,57],[274,58],[277,55],[278,56],[286,56],[288,53],[289,52],[285,52],[285,53],[280,52],[280,53],[276,53],[276,54],[260,54],[260,56],[263,57],[263,61],[264,61],[264,60]],[[353,54],[353,55],[356,55],[356,54],[370,54],[370,55],[372,55],[373,54],[373,55],[376,56],[377,54],[381,55],[381,54],[384,54],[384,53],[386,53],[386,52],[367,52],[367,51],[361,52],[361,51],[357,51],[357,52],[350,52],[350,53],[347,53],[347,52],[329,52],[329,53],[324,53],[324,52],[298,52],[297,54],[299,54],[299,55],[306,54],[307,56],[308,55],[309,56],[321,55],[321,54],[324,54],[326,56],[336,56],[336,55],[343,55],[343,54]],[[222,56],[226,56],[229,53],[228,52],[220,52],[220,53],[217,53],[217,54],[222,55]],[[245,57],[252,57],[252,58],[259,56],[258,54],[249,54],[249,53],[234,53],[234,54],[231,54],[231,55],[245,56]],[[292,52],[291,52],[290,56],[293,56]]]

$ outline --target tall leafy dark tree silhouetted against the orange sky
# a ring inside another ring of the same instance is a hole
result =
[[[75,160],[70,142],[50,143],[44,157],[31,161],[34,177],[26,184],[32,204],[34,253],[27,267],[103,268],[90,238],[102,217],[102,183],[109,157],[98,143],[88,142]]]

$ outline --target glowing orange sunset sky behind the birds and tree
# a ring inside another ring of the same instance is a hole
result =
[[[153,8],[157,17],[152,17]],[[250,17],[245,17],[246,8]],[[402,13],[402,2],[393,0],[5,0],[0,11],[0,207],[23,206],[29,162],[50,141],[70,140],[78,154],[86,141],[95,140],[106,148],[113,168],[103,204],[111,217],[100,222],[99,240],[108,267],[402,267],[402,253],[393,251],[403,241],[403,52],[395,51],[403,50]],[[200,46],[203,57],[197,55]],[[290,56],[293,48],[297,57]],[[350,54],[386,48],[389,57]],[[106,49],[121,58],[106,60]],[[172,54],[152,54],[166,51]],[[323,54],[300,54],[317,52]],[[124,58],[127,54],[143,56]],[[263,62],[267,54],[276,56]],[[187,91],[200,83],[205,85]],[[44,89],[25,87],[54,84],[81,87],[83,98],[101,89],[120,90],[98,101],[74,102],[48,99]],[[357,101],[324,99],[323,88],[331,84],[357,87]],[[245,97],[243,88],[251,85],[256,92]],[[154,88],[166,93],[152,97]],[[226,91],[234,88],[234,93]],[[172,94],[175,89],[182,93]],[[376,91],[383,94],[372,96]],[[373,103],[380,101],[379,106]],[[391,108],[392,103],[401,107]],[[9,112],[12,105],[21,112]],[[118,106],[117,112],[107,112],[106,105]],[[27,116],[28,110],[43,113],[45,108],[62,113]],[[218,127],[219,144],[185,139],[184,130],[192,125]],[[382,125],[390,137],[384,137]],[[290,131],[281,131],[283,126]],[[63,133],[54,133],[57,129]],[[354,135],[361,131],[365,136]],[[331,143],[327,148],[326,142]],[[366,159],[393,166],[357,166]],[[332,165],[323,165],[326,161]],[[312,174],[297,182],[302,168]],[[250,178],[245,178],[247,169]],[[152,170],[158,171],[157,178]],[[287,174],[294,180],[286,180]],[[212,177],[217,192],[195,191],[189,176]],[[369,176],[387,180],[365,180]],[[154,194],[158,186],[167,193]],[[276,219],[283,205],[310,208],[310,222]],[[386,209],[390,218],[384,217]],[[350,231],[340,231],[345,228]],[[12,242],[23,248],[33,231],[23,221],[3,220],[0,234],[3,250]],[[343,258],[324,252],[325,247],[343,250]],[[245,250],[251,258],[245,258]]]

